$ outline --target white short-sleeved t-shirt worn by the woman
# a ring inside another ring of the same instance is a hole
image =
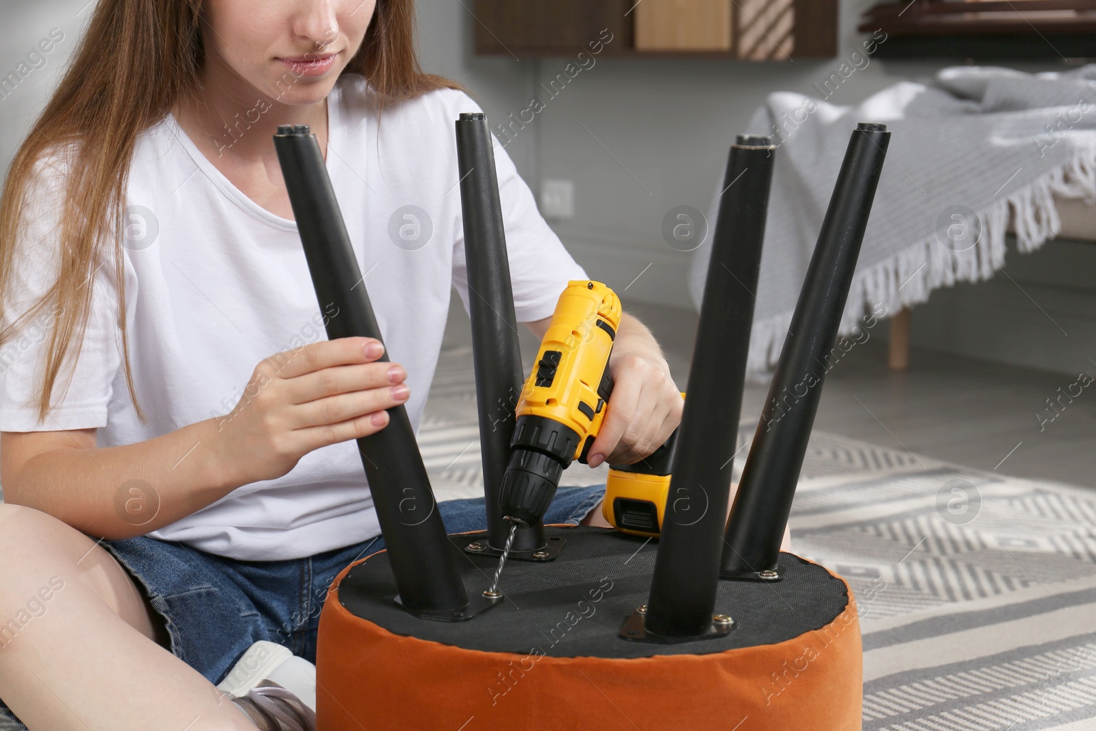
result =
[[[454,285],[468,309],[454,122],[461,112],[481,110],[464,92],[433,91],[386,108],[378,134],[367,90],[363,77],[346,75],[328,96],[327,169],[389,357],[408,372],[407,410],[418,433]],[[569,279],[586,274],[492,139],[517,319],[539,320],[552,313]],[[28,265],[16,271],[12,313],[25,312],[30,298],[56,277],[56,218],[49,214],[59,205],[59,183],[44,180],[36,222],[21,249],[19,261]],[[98,446],[141,442],[229,413],[260,361],[327,339],[296,224],[236,189],[171,115],[140,136],[126,205],[130,363],[148,423],[138,421],[129,398],[107,263],[93,279],[93,309],[71,386],[58,402],[62,368],[54,392],[58,408],[44,424],[25,402],[45,361],[48,315],[0,353],[0,431],[99,427]],[[416,213],[406,206],[420,208],[419,216],[404,217]],[[378,534],[351,439],[149,535],[237,559],[275,560]]]

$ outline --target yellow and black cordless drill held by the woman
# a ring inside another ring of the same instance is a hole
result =
[[[528,525],[548,510],[562,471],[586,464],[613,391],[609,355],[620,300],[600,282],[576,279],[556,304],[537,361],[517,403],[502,514]],[[670,487],[676,432],[635,465],[610,465],[603,515],[624,533],[657,536]]]

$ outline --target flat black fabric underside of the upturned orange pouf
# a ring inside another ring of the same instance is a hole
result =
[[[779,582],[719,582],[715,614],[734,619],[729,635],[676,644],[623,640],[617,637],[621,625],[647,603],[658,540],[590,526],[546,532],[567,539],[559,557],[545,563],[507,561],[499,582],[505,601],[468,621],[419,619],[400,608],[387,552],[351,569],[339,585],[339,601],[351,614],[396,635],[487,652],[539,649],[557,658],[706,654],[773,644],[825,627],[848,605],[841,579],[780,553]],[[499,563],[463,550],[483,535],[449,537],[469,595],[490,585]]]

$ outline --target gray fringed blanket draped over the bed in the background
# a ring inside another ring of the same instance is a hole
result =
[[[856,106],[773,93],[746,130],[777,144],[752,372],[779,356],[858,122],[886,123],[893,134],[843,335],[858,332],[861,316],[889,317],[937,287],[992,277],[1004,265],[1009,221],[1019,251],[1038,249],[1060,230],[1055,196],[1096,202],[1096,65],[1038,75],[951,67],[928,83],[901,82]],[[712,227],[718,201],[717,192]],[[696,250],[689,275],[697,307],[710,238]]]

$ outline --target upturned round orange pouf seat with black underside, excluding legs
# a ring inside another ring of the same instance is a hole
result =
[[[319,731],[860,728],[860,631],[840,576],[781,553],[779,582],[720,582],[726,637],[635,642],[617,632],[647,601],[657,542],[548,532],[567,540],[559,557],[507,562],[506,601],[466,623],[397,606],[384,552],[346,567],[320,617]],[[460,562],[469,592],[486,589],[496,559]]]

